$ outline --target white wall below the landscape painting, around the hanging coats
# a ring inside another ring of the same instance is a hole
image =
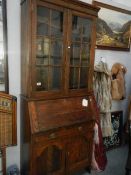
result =
[[[101,57],[105,59],[109,69],[116,62],[126,66],[127,73],[125,74],[126,82],[126,98],[120,101],[112,101],[112,111],[123,110],[123,122],[127,118],[128,96],[131,94],[131,52],[109,51],[109,50],[96,50],[95,63],[100,61]]]

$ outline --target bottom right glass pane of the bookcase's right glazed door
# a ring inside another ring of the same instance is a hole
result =
[[[80,88],[86,88],[87,87],[87,76],[88,76],[88,68],[87,67],[81,67]]]

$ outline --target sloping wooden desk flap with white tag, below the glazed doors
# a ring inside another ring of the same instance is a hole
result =
[[[29,101],[28,109],[31,132],[37,133],[92,121],[94,116],[92,116],[89,103],[88,97]]]

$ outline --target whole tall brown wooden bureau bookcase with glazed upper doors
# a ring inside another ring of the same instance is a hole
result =
[[[77,0],[21,1],[22,175],[90,168],[98,11]]]

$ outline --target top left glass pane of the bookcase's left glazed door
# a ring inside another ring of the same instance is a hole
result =
[[[46,7],[38,6],[37,8],[37,34],[48,35],[49,33],[49,15],[50,11]]]

